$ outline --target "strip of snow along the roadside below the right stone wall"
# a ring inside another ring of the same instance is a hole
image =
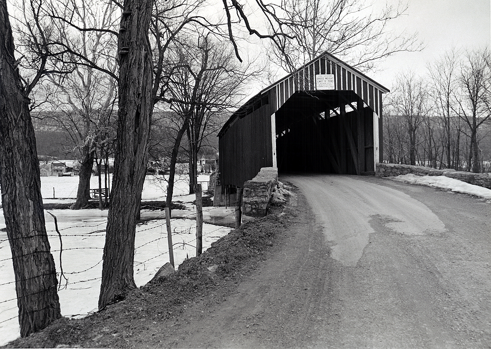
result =
[[[390,178],[400,182],[427,185],[430,187],[447,189],[454,193],[469,194],[479,198],[491,200],[491,189],[480,187],[474,184],[469,184],[459,179],[450,178],[442,175],[418,176],[418,175],[408,174],[408,175],[398,175],[396,177],[390,177]]]

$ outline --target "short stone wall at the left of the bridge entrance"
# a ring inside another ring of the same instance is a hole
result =
[[[278,183],[278,169],[263,167],[251,180],[244,183],[242,213],[251,217],[264,217]]]

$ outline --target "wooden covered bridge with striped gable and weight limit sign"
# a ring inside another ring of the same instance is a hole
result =
[[[262,167],[279,173],[373,174],[382,161],[389,90],[329,53],[248,100],[218,133],[222,192]]]

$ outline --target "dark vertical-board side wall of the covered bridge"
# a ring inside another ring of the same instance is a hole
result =
[[[262,167],[273,166],[270,106],[237,119],[219,140],[220,180],[242,188]]]

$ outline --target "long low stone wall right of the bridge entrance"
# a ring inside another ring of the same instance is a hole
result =
[[[397,175],[444,175],[446,177],[462,180],[463,182],[479,185],[491,189],[491,174],[475,174],[471,172],[455,171],[451,169],[436,170],[424,166],[411,166],[399,164],[377,164],[375,175],[392,177]]]

